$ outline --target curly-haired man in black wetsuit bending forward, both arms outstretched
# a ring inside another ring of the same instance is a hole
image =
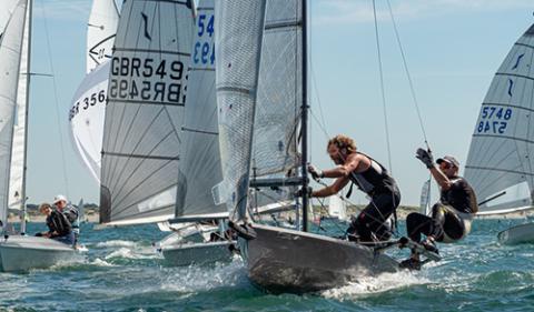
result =
[[[348,228],[348,239],[357,242],[377,242],[388,240],[392,234],[389,218],[400,202],[400,192],[395,180],[386,169],[373,158],[357,152],[353,139],[336,135],[328,141],[328,154],[336,168],[320,171],[308,167],[314,178],[337,178],[336,181],[317,191],[312,197],[325,198],[353,182],[370,198],[369,204],[353,218]]]

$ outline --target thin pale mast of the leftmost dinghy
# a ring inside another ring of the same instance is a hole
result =
[[[23,155],[23,165],[22,165],[22,189],[20,192],[21,195],[21,205],[22,205],[22,220],[20,220],[20,233],[26,233],[26,217],[27,217],[27,207],[26,207],[26,160],[28,155],[28,108],[30,105],[30,56],[31,56],[31,19],[32,19],[32,8],[33,8],[33,0],[28,1],[28,64],[27,64],[27,72],[26,72],[26,118],[24,118],[24,155]]]

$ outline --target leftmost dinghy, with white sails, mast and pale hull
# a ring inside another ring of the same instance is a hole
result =
[[[6,272],[49,268],[76,254],[65,243],[23,234],[31,7],[31,0],[4,0],[0,4],[0,71],[7,73],[0,83],[0,168],[4,172],[0,179],[0,221],[4,225],[0,227],[0,269]],[[8,231],[9,210],[22,211],[22,234]]]

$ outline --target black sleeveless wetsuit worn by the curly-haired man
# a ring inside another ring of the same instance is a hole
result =
[[[362,153],[360,153],[362,154]],[[347,232],[349,240],[375,242],[388,240],[392,227],[387,220],[395,213],[400,192],[387,170],[370,157],[370,167],[364,172],[350,172],[350,181],[370,198],[369,204],[353,219]]]

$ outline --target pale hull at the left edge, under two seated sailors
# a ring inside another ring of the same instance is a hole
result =
[[[46,269],[72,260],[75,249],[47,238],[11,235],[0,241],[0,269],[4,272]]]

